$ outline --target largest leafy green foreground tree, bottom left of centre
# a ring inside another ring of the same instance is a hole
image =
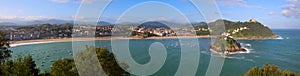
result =
[[[96,51],[96,55],[94,54],[94,51]],[[129,73],[124,70],[127,69],[126,67],[128,66],[122,64],[122,67],[125,67],[122,69],[121,66],[118,65],[113,53],[108,51],[107,48],[95,48],[94,46],[86,47],[86,50],[77,53],[75,59],[78,60],[76,63],[79,64],[77,65],[77,68],[80,68],[78,70],[85,74],[94,75],[99,72],[98,68],[102,66],[102,69],[108,76],[129,75]],[[93,62],[95,60],[92,59],[98,59],[100,64],[96,64],[97,62]]]

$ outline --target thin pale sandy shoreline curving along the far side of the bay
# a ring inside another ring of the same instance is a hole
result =
[[[146,39],[174,39],[174,38],[203,38],[209,39],[213,36],[166,36],[166,37],[148,37],[148,38],[139,38],[139,37],[78,37],[78,38],[56,38],[56,39],[35,39],[35,40],[20,40],[20,41],[10,41],[11,47],[16,47],[20,45],[30,45],[30,44],[40,44],[40,43],[54,43],[54,42],[69,42],[69,41],[91,41],[91,40],[124,40],[124,39],[133,39],[133,40],[146,40]],[[235,38],[236,40],[265,40],[265,39],[283,39],[280,36],[269,37],[269,38]]]

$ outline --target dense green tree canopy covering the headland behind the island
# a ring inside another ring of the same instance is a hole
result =
[[[225,25],[224,28],[221,28],[220,26],[223,26],[223,24]],[[217,20],[215,22],[210,22],[208,24],[205,23],[199,23],[199,24],[194,24],[195,29],[199,29],[199,28],[205,28],[208,29],[210,26],[210,28],[216,32],[219,29],[225,29],[225,31],[233,31],[234,29],[238,29],[241,27],[247,27],[249,28],[248,30],[243,30],[240,31],[236,34],[233,34],[234,37],[271,37],[271,36],[275,36],[275,34],[272,32],[271,29],[269,29],[268,27],[264,26],[263,24],[259,23],[259,22],[232,22],[229,20]],[[220,28],[214,28],[214,26],[218,26]],[[210,32],[209,31],[203,31],[203,30],[199,30],[196,31],[197,35],[209,35]]]

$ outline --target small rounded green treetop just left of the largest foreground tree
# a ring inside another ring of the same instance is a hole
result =
[[[52,64],[52,76],[79,76],[73,59],[59,59]]]

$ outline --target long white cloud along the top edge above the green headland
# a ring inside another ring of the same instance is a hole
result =
[[[265,9],[260,6],[249,5],[245,0],[216,0],[216,2],[220,6]]]

